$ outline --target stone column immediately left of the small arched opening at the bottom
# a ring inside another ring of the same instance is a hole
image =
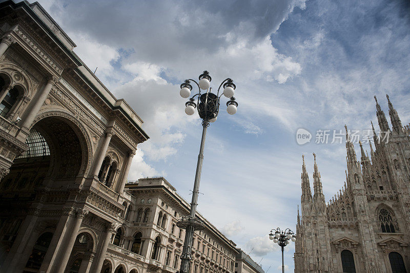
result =
[[[64,270],[66,269],[68,259],[70,258],[71,250],[74,246],[75,239],[77,238],[81,222],[83,222],[83,219],[87,214],[88,211],[83,208],[77,210],[77,218],[70,228],[70,234],[66,236],[66,240],[63,244],[61,244],[59,248],[52,272],[64,272]]]

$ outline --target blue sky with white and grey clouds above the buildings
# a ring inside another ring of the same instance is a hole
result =
[[[362,140],[388,117],[388,94],[410,121],[410,4],[386,0],[39,0],[74,52],[144,120],[129,179],[164,176],[190,200],[201,137],[179,85],[204,70],[216,90],[236,84],[237,114],[208,128],[198,210],[269,272],[281,270],[272,228],[296,232],[301,156],[313,192],[313,155],[326,200],[345,181],[344,124]],[[304,129],[312,139],[298,144]],[[330,134],[327,143],[321,134]],[[338,139],[337,139],[338,140]],[[319,143],[316,143],[319,142]],[[335,142],[335,143],[331,143]],[[369,145],[364,143],[369,150]],[[358,158],[359,145],[355,145]],[[370,150],[369,150],[370,152]],[[285,247],[293,271],[294,243]],[[263,259],[263,260],[262,260]]]

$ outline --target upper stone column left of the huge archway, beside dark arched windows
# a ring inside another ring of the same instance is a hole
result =
[[[44,101],[46,100],[48,94],[51,91],[51,88],[55,85],[57,81],[58,81],[57,77],[51,76],[49,80],[47,81],[46,86],[41,91],[37,91],[36,97],[29,104],[29,107],[24,113],[24,119],[20,123],[20,127],[22,129],[29,131],[30,125],[33,122],[36,114],[42,107]]]

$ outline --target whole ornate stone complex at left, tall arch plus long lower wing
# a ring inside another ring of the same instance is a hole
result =
[[[142,120],[37,2],[0,3],[0,272],[175,273],[189,204],[163,178],[127,183]],[[200,214],[191,273],[237,250]]]

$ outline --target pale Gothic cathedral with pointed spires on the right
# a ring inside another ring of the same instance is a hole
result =
[[[392,130],[376,99],[381,133],[372,123],[370,157],[360,143],[357,160],[346,128],[346,182],[329,203],[316,155],[313,196],[303,158],[295,272],[410,271],[410,127],[402,126],[388,96],[387,102]]]

